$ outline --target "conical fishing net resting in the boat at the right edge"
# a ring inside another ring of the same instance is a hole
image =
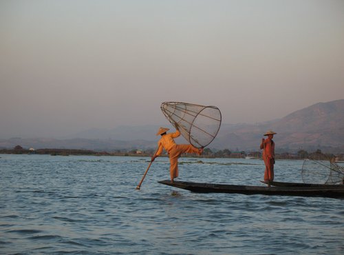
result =
[[[344,169],[322,154],[303,161],[301,176],[304,183],[343,184]]]

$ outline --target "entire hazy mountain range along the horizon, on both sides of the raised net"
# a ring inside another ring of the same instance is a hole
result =
[[[0,148],[13,148],[16,145],[34,148],[68,148],[98,151],[120,149],[155,148],[158,125],[119,126],[113,130],[93,129],[80,132],[67,139],[0,139]],[[212,150],[229,149],[246,152],[259,150],[263,134],[274,130],[276,150],[297,152],[299,150],[323,150],[323,152],[344,152],[344,99],[327,103],[316,103],[308,108],[257,124],[223,123],[217,137],[209,145]],[[120,139],[118,139],[120,137]],[[144,140],[143,140],[144,138]],[[178,143],[185,143],[178,139]]]

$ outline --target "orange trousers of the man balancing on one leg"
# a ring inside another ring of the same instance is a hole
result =
[[[178,158],[183,153],[199,153],[199,150],[190,144],[176,144],[169,150],[171,180],[178,177]]]

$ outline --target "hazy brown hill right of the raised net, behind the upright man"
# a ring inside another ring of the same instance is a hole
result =
[[[279,150],[344,152],[344,99],[316,103],[269,123],[224,125],[211,145],[232,150],[259,150],[267,130],[277,132],[274,141]]]

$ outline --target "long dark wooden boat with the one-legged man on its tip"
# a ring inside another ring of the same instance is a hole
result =
[[[331,198],[344,198],[344,186],[331,185],[331,187],[264,187],[264,186],[247,186],[247,185],[228,185],[215,183],[193,183],[187,181],[159,181],[164,185],[178,187],[197,193],[230,193],[230,194],[262,194],[262,195],[279,195],[279,196],[323,196]]]

